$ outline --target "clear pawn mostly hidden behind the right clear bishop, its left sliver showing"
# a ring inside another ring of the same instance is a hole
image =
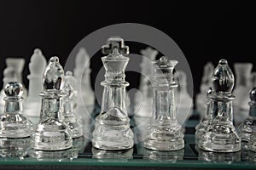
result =
[[[197,144],[198,139],[200,139],[201,135],[207,130],[209,119],[211,118],[210,111],[212,111],[212,108],[211,108],[212,105],[211,105],[211,99],[209,98],[210,94],[212,94],[212,88],[209,88],[207,92],[207,101],[206,101],[207,111],[205,115],[201,118],[200,123],[195,127],[195,144]]]

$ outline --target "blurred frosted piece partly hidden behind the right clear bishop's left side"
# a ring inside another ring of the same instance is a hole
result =
[[[200,93],[195,96],[195,106],[196,110],[201,113],[201,117],[207,110],[207,89],[211,86],[212,72],[214,70],[214,65],[212,62],[207,62],[203,69],[203,76],[201,79]]]

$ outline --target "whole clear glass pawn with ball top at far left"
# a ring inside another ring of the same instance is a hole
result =
[[[26,138],[32,131],[32,122],[23,114],[20,82],[9,82],[5,88],[4,112],[0,115],[0,138]]]

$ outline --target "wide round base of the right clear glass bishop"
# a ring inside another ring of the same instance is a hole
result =
[[[201,133],[198,147],[214,152],[236,152],[241,150],[241,139],[234,126],[215,124],[209,126],[205,133]]]

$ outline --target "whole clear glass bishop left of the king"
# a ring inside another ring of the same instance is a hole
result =
[[[63,120],[64,71],[58,57],[49,59],[43,77],[44,92],[40,120],[31,135],[35,150],[66,150],[73,146],[72,135]]]

